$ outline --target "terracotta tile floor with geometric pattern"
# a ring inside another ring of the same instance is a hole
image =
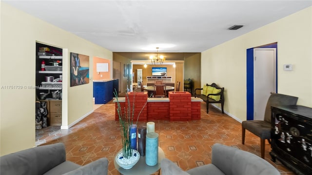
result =
[[[94,113],[85,117],[68,130],[48,127],[36,130],[36,144],[63,142],[67,159],[85,165],[100,157],[109,160],[109,175],[118,175],[114,167],[114,157],[120,150],[119,123],[115,121],[115,104],[97,106]],[[206,104],[201,103],[201,119],[194,121],[156,120],[155,131],[159,134],[159,146],[165,156],[181,169],[211,163],[214,143],[221,143],[260,156],[260,139],[246,131],[245,145],[241,143],[241,123],[210,107],[206,114]],[[145,125],[139,122],[138,125]],[[265,159],[273,164],[281,175],[295,175],[281,163],[270,160],[271,145],[266,142]]]

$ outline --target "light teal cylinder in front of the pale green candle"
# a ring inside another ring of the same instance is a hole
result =
[[[149,166],[157,165],[158,163],[158,134],[147,133],[145,144],[145,162]]]

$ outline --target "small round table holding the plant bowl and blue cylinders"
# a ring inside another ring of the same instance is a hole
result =
[[[163,158],[165,158],[165,153],[160,147],[158,147],[158,163],[155,166],[146,165],[145,156],[140,156],[140,159],[138,160],[137,164],[129,170],[125,170],[121,168],[119,165],[117,165],[115,158],[114,158],[114,165],[115,165],[116,170],[121,175],[151,175],[159,171],[160,162]]]

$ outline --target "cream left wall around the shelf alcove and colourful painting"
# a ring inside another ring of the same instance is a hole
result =
[[[35,146],[36,41],[63,48],[63,125],[78,121],[93,111],[93,77],[90,83],[70,87],[70,52],[93,58],[113,59],[105,48],[78,38],[47,22],[0,2],[0,86],[22,89],[0,91],[0,154],[6,155]],[[110,67],[112,70],[112,67]],[[110,75],[112,77],[112,73]]]

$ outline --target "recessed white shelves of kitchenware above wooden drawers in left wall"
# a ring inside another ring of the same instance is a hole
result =
[[[42,51],[42,48],[48,52]],[[55,52],[55,53],[54,53]],[[48,55],[48,56],[42,56]],[[62,49],[41,43],[36,43],[36,96],[39,101],[46,102],[48,125],[62,124]],[[41,62],[45,62],[45,66]],[[42,69],[41,69],[42,68]],[[45,70],[44,70],[44,69]],[[49,69],[48,69],[49,68]],[[46,77],[54,77],[55,81],[46,82]],[[58,79],[59,78],[59,79]]]

